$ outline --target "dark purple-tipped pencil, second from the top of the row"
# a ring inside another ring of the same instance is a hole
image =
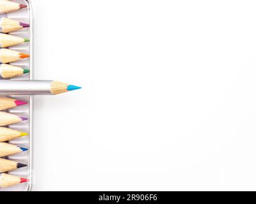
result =
[[[29,24],[24,24],[9,18],[0,18],[0,33],[10,33],[22,29],[23,27],[29,27]]]

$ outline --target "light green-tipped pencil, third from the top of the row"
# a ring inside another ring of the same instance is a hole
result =
[[[29,40],[26,38],[12,36],[10,34],[0,33],[0,48],[10,47],[25,42],[29,42]]]

